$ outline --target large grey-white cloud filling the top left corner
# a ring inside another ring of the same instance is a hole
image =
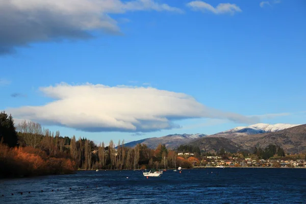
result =
[[[0,0],[0,54],[30,42],[90,38],[88,31],[119,34],[109,14],[181,9],[154,0]]]

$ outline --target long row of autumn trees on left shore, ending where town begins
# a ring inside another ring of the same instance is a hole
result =
[[[32,121],[22,121],[15,127],[12,116],[4,112],[0,116],[0,164],[5,167],[0,171],[1,175],[70,172],[71,168],[139,169],[164,168],[165,165],[166,168],[172,168],[175,165],[176,152],[168,150],[164,144],[159,144],[156,149],[150,149],[144,144],[138,144],[134,148],[126,147],[124,141],[120,140],[117,145],[113,140],[108,145],[104,142],[96,145],[87,138],[62,137],[59,131],[51,132]],[[62,161],[62,165],[55,161]],[[64,165],[67,163],[69,168]],[[176,160],[176,166],[183,168],[191,167],[192,163],[194,161],[184,158]],[[24,166],[18,166],[19,164]]]

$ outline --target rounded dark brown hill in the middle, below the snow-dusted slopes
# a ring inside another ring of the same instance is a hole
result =
[[[243,150],[242,146],[224,137],[203,137],[195,139],[187,143],[187,145],[197,146],[200,150],[210,152],[219,151],[221,148],[224,148],[225,151],[229,152]]]

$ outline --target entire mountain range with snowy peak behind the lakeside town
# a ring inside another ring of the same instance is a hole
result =
[[[255,146],[265,148],[268,144],[281,146],[287,152],[296,153],[306,150],[306,124],[265,124],[258,123],[249,126],[206,134],[173,134],[163,137],[146,138],[126,143],[134,147],[136,144],[146,144],[156,148],[159,143],[167,148],[175,148],[181,144],[198,146],[201,150],[216,151],[224,148],[226,151],[252,150]]]

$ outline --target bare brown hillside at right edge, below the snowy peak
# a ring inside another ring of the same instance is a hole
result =
[[[274,133],[263,133],[244,137],[234,137],[233,142],[251,148],[265,148],[269,144],[281,146],[286,152],[297,153],[306,151],[306,124],[290,127]]]

